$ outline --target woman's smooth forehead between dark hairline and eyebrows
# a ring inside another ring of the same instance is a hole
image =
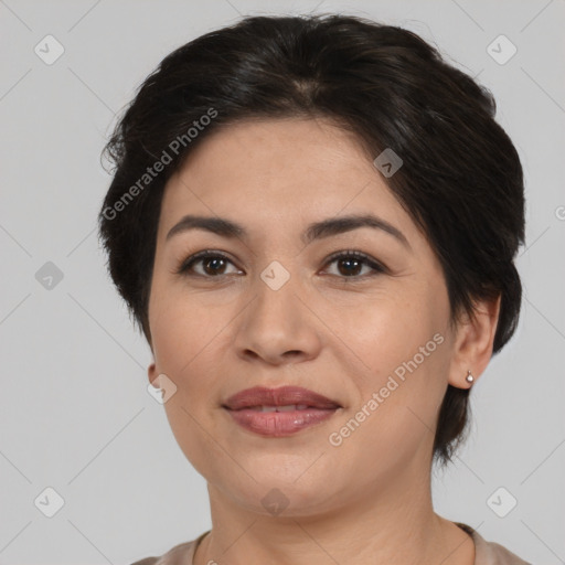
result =
[[[160,231],[188,213],[228,217],[250,232],[257,223],[284,228],[363,213],[416,230],[354,136],[319,119],[212,131],[169,180]]]

